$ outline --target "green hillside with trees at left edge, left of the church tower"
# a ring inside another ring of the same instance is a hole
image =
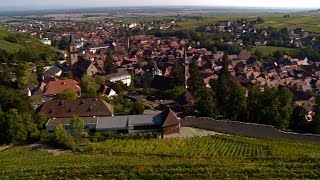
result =
[[[0,62],[54,61],[58,50],[38,39],[0,27]]]

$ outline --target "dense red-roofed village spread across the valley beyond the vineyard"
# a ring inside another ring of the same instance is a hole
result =
[[[263,19],[219,21],[215,25],[199,27],[197,31],[230,33],[235,36],[233,40],[220,40],[239,46],[248,44],[241,37],[244,39],[253,33],[257,34],[254,36],[256,39],[253,40],[253,45],[264,46],[267,44],[269,32],[261,29],[257,31],[253,26],[260,21]],[[75,31],[74,27],[81,30]],[[55,44],[64,49],[60,50],[58,61],[43,66],[41,83],[30,84],[24,93],[31,98],[33,107],[48,118],[48,131],[53,131],[54,127],[61,123],[69,126],[70,119],[78,115],[85,118],[87,131],[104,129],[134,132],[132,130],[139,129],[134,127],[135,124],[142,123],[145,127],[140,127],[141,131],[137,132],[159,132],[162,131],[161,128],[168,128],[167,126],[171,130],[165,134],[179,132],[184,117],[197,115],[197,97],[186,89],[190,78],[189,65],[197,65],[202,83],[210,88],[211,82],[219,78],[219,71],[223,68],[222,59],[228,52],[219,51],[217,48],[208,50],[202,48],[199,41],[175,36],[130,36],[135,30],[165,31],[175,27],[175,20],[132,24],[108,22],[94,25],[33,20],[30,25],[12,26],[16,31],[39,37],[46,45]],[[68,28],[72,31],[61,31]],[[291,40],[283,38],[281,41],[284,40],[282,42],[290,43],[296,48],[302,46],[301,40],[308,37],[308,33],[303,29],[287,32]],[[243,88],[254,84],[271,88],[286,87],[294,95],[292,105],[303,107],[306,110],[306,121],[312,121],[316,93],[320,88],[319,62],[310,61],[308,57],[298,59],[282,53],[277,55],[274,62],[265,63],[257,53],[248,50],[241,50],[237,54],[229,52],[227,59],[229,73]],[[180,91],[176,92],[180,94],[169,97],[169,93],[163,92],[176,87],[172,78],[177,76],[177,72],[172,72],[172,69],[176,69],[177,65],[182,67],[180,78],[183,79],[185,87],[180,86]],[[83,77],[90,78],[89,81],[98,79],[99,87],[94,90],[95,96],[84,95],[86,93],[83,93],[81,85]],[[71,100],[59,97],[68,91],[76,93],[77,97]],[[248,96],[248,89],[245,93]],[[115,102],[113,99],[117,99],[117,96],[121,100]],[[139,112],[143,115],[129,115],[128,111],[133,102],[143,104],[144,111]],[[166,111],[165,116],[162,111]],[[162,118],[155,120],[160,116]],[[167,116],[174,118],[168,120]]]

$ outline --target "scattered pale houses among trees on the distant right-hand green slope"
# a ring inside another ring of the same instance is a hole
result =
[[[268,28],[256,28],[255,25],[262,23],[258,20],[249,21],[245,19],[237,21],[218,21],[216,24],[208,24],[200,26],[197,31],[200,32],[212,32],[212,33],[228,33],[230,37],[220,38],[220,41],[228,44],[236,44],[240,46],[245,45],[245,40],[252,39],[252,42],[247,42],[247,45],[253,46],[265,46],[274,45],[272,40],[276,40],[285,47],[299,48],[303,45],[310,44],[315,41],[314,37],[309,36],[309,33],[302,28],[296,28],[291,30],[284,28],[281,30],[281,34],[277,37],[272,37],[272,32]],[[261,19],[261,21],[263,21]],[[224,36],[225,37],[225,36]]]

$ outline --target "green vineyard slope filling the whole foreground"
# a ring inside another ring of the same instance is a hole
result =
[[[0,152],[2,179],[318,179],[315,143],[232,136],[107,140],[83,153]]]

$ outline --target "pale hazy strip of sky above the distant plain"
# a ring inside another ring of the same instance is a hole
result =
[[[115,6],[239,6],[320,8],[320,0],[0,0],[2,10]]]

